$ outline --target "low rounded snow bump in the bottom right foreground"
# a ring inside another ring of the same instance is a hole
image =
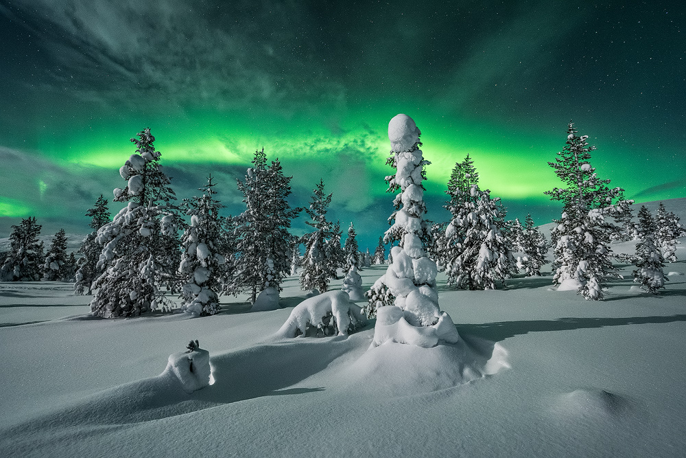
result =
[[[628,400],[604,389],[575,389],[558,397],[556,408],[563,416],[600,418],[619,417],[629,410]]]

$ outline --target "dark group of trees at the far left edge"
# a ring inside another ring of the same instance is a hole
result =
[[[36,218],[29,216],[12,226],[10,251],[0,259],[0,279],[4,282],[71,282],[77,268],[74,253],[67,255],[67,234],[60,229],[45,245],[38,240],[40,229]]]

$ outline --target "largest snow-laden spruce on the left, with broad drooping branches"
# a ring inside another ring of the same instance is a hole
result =
[[[178,268],[163,234],[165,225],[174,222],[163,216],[174,214],[171,201],[176,196],[159,164],[161,154],[150,129],[137,137],[131,139],[136,153],[119,169],[127,185],[114,190],[114,200],[128,205],[97,231],[95,239],[103,247],[97,263],[102,273],[93,282],[97,291],[91,301],[91,312],[98,317],[137,317],[167,308],[168,299],[158,285]]]

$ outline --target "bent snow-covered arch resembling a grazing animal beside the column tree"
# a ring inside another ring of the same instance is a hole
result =
[[[348,293],[331,290],[300,302],[276,335],[283,338],[300,334],[305,336],[308,328],[316,329],[317,334],[322,332],[326,335],[333,326],[334,330],[338,330],[339,336],[346,336],[349,329],[361,327],[365,323],[362,308],[351,302]]]

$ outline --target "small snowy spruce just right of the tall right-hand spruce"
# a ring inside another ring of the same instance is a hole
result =
[[[650,211],[645,205],[639,209],[639,242],[636,244],[636,266],[633,271],[634,282],[641,284],[646,293],[657,294],[665,287],[665,273],[663,272],[664,258],[660,249],[655,246],[657,225],[652,219]]]

